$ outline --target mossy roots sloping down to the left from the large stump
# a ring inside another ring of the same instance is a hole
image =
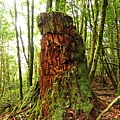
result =
[[[37,82],[32,86],[23,100],[19,101],[13,108],[12,112],[6,117],[8,118],[38,118],[40,114],[40,87]]]

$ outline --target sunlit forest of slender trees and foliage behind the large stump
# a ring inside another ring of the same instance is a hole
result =
[[[0,1],[1,105],[16,104],[39,80],[41,36],[36,21],[46,9],[72,16],[85,45],[90,82],[99,77],[104,84],[108,77],[120,95],[119,0],[53,0],[50,8],[49,4],[44,0]]]

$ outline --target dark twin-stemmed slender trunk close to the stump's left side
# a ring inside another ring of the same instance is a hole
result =
[[[31,14],[31,29],[30,29],[30,2],[27,0],[27,28],[28,28],[28,88],[32,86],[33,76],[33,61],[34,61],[34,43],[33,43],[33,30],[34,30],[34,0],[32,0],[32,14]],[[31,34],[30,34],[31,32]]]

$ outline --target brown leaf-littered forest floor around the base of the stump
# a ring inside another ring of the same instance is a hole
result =
[[[100,77],[96,77],[91,83],[91,88],[95,92],[98,101],[95,103],[98,112],[101,113],[116,97],[117,91],[113,89],[111,81],[108,77],[105,78],[106,83],[101,83]],[[0,115],[0,120],[6,120],[5,118],[10,114],[7,112]],[[8,120],[16,120],[15,118],[9,118]],[[24,120],[24,119],[20,119]],[[101,118],[101,120],[120,120],[120,101],[116,102]]]

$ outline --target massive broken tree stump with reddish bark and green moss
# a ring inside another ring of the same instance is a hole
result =
[[[70,16],[41,13],[40,99],[46,119],[87,118],[92,97],[83,40]]]

